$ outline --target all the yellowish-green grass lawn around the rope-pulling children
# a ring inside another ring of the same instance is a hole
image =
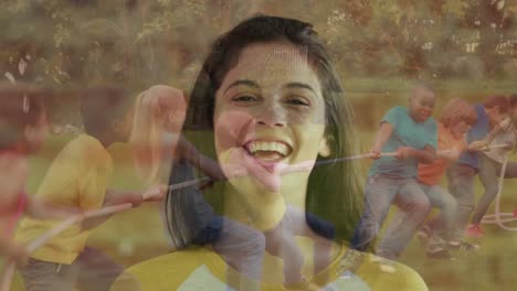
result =
[[[347,89],[348,96],[354,100],[358,118],[359,140],[362,151],[369,149],[373,136],[373,127],[386,110],[394,105],[404,105],[410,83],[404,80],[350,80],[354,86]],[[437,111],[444,100],[452,97],[465,97],[471,101],[481,101],[482,96],[493,93],[516,93],[515,82],[499,83],[440,83],[437,86],[441,100]],[[445,90],[449,88],[449,90]],[[461,93],[461,94],[456,94]],[[29,192],[34,193],[40,184],[46,168],[59,152],[61,147],[72,136],[52,137],[43,151],[31,159],[31,177]],[[115,175],[112,186],[115,188],[141,188],[128,148],[115,144],[110,148],[115,161]],[[514,157],[515,158],[515,157]],[[365,169],[368,168],[365,161]],[[507,181],[503,192],[503,211],[511,212],[517,208],[515,188],[517,181]],[[482,194],[477,182],[476,195]],[[107,223],[96,228],[88,245],[98,247],[125,266],[130,266],[166,254],[169,251],[165,237],[158,203],[147,204],[113,216]],[[493,209],[489,211],[490,213]],[[517,224],[514,225],[517,227]],[[485,237],[478,241],[482,246],[476,252],[454,252],[455,260],[439,261],[426,259],[424,248],[413,239],[401,261],[416,269],[431,290],[516,290],[517,289],[517,234],[498,229],[496,226],[485,227]],[[516,268],[516,269],[514,269]],[[15,285],[20,288],[20,278]],[[516,285],[514,285],[514,283]],[[17,290],[17,289],[14,289]]]

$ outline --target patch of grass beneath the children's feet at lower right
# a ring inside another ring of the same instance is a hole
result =
[[[508,181],[504,185],[503,212],[517,208],[516,182]],[[477,183],[477,196],[482,194],[482,188]],[[494,213],[493,207],[488,211],[490,213]],[[507,226],[517,227],[517,223]],[[424,247],[415,238],[400,260],[422,274],[430,290],[516,290],[517,233],[503,230],[496,225],[484,225],[483,229],[483,239],[471,240],[479,244],[481,249],[453,251],[453,261],[428,259]]]

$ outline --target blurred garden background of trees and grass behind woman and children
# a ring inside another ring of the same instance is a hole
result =
[[[415,80],[436,88],[436,112],[453,97],[478,103],[492,94],[517,94],[515,0],[4,0],[0,78],[57,93],[45,100],[53,134],[31,159],[29,192],[81,131],[82,88],[112,82],[137,94],[167,84],[188,94],[214,36],[257,12],[315,25],[354,103],[363,151],[378,120],[405,103]],[[116,166],[112,186],[143,187],[127,146],[115,144],[110,152]],[[517,208],[516,186],[505,182],[504,211]],[[437,261],[426,259],[414,240],[401,261],[416,269],[431,290],[514,290],[517,234],[486,227],[479,242],[477,252]],[[157,204],[114,216],[88,244],[125,266],[169,251]]]

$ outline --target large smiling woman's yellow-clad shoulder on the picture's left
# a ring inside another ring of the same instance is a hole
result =
[[[219,262],[220,258],[204,248],[173,251],[128,268],[117,278],[112,291],[177,290],[197,269],[212,269]]]

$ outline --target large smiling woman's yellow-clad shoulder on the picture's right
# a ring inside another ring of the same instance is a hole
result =
[[[371,290],[429,290],[422,277],[409,266],[371,254],[361,254],[359,276]]]

